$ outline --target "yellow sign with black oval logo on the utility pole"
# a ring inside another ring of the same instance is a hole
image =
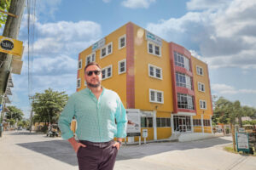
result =
[[[21,56],[23,53],[23,42],[0,36],[0,52]]]

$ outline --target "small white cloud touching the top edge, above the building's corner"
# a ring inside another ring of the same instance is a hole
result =
[[[148,8],[156,0],[125,0],[122,5],[126,8]]]

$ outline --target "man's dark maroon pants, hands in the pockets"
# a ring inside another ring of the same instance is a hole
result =
[[[92,143],[80,140],[86,147],[80,147],[77,153],[79,170],[112,170],[117,156],[114,141],[105,143]]]

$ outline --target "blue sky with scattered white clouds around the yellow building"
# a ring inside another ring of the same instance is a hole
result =
[[[49,87],[74,93],[79,52],[129,21],[207,62],[212,94],[256,107],[256,1],[39,0],[30,90],[26,17],[25,11],[19,37],[24,64],[9,96],[26,117],[28,94]]]

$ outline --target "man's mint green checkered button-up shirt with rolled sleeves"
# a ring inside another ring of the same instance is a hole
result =
[[[73,137],[70,129],[73,116],[77,120],[76,134],[79,140],[108,142],[114,137],[126,137],[125,107],[119,95],[112,90],[103,88],[99,99],[89,88],[72,94],[59,119],[63,139]]]

